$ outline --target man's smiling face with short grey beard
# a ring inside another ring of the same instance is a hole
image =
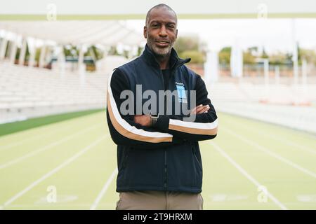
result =
[[[156,55],[169,55],[177,35],[176,15],[171,10],[162,7],[150,12],[149,20],[144,27],[144,37]]]

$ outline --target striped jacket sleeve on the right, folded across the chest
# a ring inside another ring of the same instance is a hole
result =
[[[154,127],[184,141],[202,141],[215,138],[218,129],[216,111],[211,100],[207,97],[205,83],[199,75],[197,75],[195,90],[197,105],[209,105],[210,109],[207,113],[196,114],[193,122],[185,121],[183,119],[185,116],[162,115],[159,116]]]

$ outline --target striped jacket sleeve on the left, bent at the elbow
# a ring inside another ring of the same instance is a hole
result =
[[[162,148],[180,144],[182,139],[159,131],[154,127],[145,127],[134,123],[132,115],[122,115],[121,92],[129,90],[129,81],[119,69],[115,69],[107,83],[107,124],[112,140],[117,145],[136,148]]]

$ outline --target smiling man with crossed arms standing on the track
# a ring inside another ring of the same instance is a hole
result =
[[[154,6],[146,16],[143,54],[110,76],[107,123],[117,144],[117,209],[203,208],[198,141],[216,137],[217,116],[202,78],[184,65],[190,59],[173,49],[177,35],[176,13],[165,4]],[[159,94],[164,90],[176,97]],[[150,113],[143,111],[149,97],[137,97],[146,91],[156,96]],[[190,113],[170,109],[179,104]]]

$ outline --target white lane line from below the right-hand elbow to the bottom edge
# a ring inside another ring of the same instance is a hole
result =
[[[236,167],[239,172],[241,172],[244,176],[246,176],[247,179],[249,179],[249,181],[251,181],[252,183],[254,183],[254,185],[257,186],[257,188],[259,188],[261,185],[261,183],[259,183],[258,181],[256,181],[256,179],[254,179],[254,177],[252,177],[250,174],[248,174],[246,172],[246,170],[244,170],[244,168],[242,168],[240,165],[237,164],[237,162],[235,162],[235,160],[233,160],[227,153],[225,153],[225,151],[223,151],[222,148],[220,148],[220,146],[218,146],[217,144],[214,144],[213,142],[210,143],[220,154],[223,155],[223,157],[225,157],[234,167]],[[270,200],[272,200],[273,202],[275,202],[275,204],[277,204],[277,206],[279,206],[282,210],[287,210],[287,207],[284,206],[284,204],[282,204],[281,202],[279,202],[279,200],[277,200],[277,198],[275,196],[273,196],[268,190],[266,192],[266,195],[270,198]]]

